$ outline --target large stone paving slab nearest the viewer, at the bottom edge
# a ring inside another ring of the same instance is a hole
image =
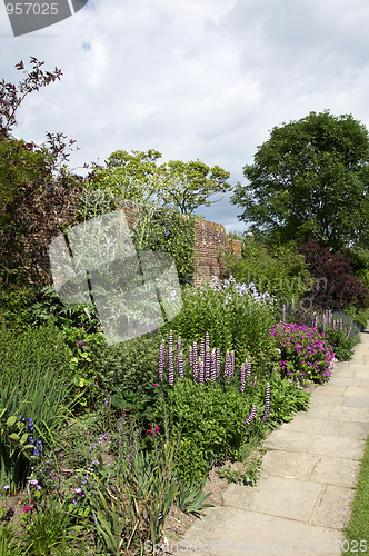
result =
[[[249,554],[297,556],[308,554],[309,556],[322,556],[325,554],[323,547],[329,548],[330,554],[341,554],[343,540],[342,533],[337,529],[257,512],[217,507],[207,510],[206,528],[201,526],[201,522],[192,525],[178,553],[183,554],[184,552],[184,554],[199,556],[209,556],[209,554],[225,556],[247,556]],[[173,552],[173,554],[177,553]]]

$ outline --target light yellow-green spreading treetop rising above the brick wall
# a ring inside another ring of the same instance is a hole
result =
[[[229,172],[219,166],[210,168],[200,160],[170,160],[159,166],[160,158],[161,153],[153,149],[131,153],[118,150],[110,155],[106,168],[94,167],[90,185],[139,203],[148,199],[149,192],[152,202],[184,215],[202,205],[210,206],[213,193],[231,189],[227,183]]]

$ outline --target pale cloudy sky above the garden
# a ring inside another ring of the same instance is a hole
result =
[[[89,0],[13,37],[1,2],[0,80],[18,82],[31,56],[62,70],[24,100],[13,135],[76,139],[76,172],[156,149],[162,162],[218,165],[235,186],[275,126],[328,109],[369,128],[368,29],[368,0]],[[243,231],[230,197],[196,212]]]

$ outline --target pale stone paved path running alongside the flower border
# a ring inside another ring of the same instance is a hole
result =
[[[360,337],[353,359],[313,390],[309,410],[265,441],[257,487],[231,484],[223,506],[178,542],[179,554],[341,554],[369,434],[369,330]]]

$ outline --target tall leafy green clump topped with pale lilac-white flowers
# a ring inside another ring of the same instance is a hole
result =
[[[170,328],[188,341],[198,341],[209,332],[211,347],[223,354],[235,350],[238,364],[249,354],[262,357],[268,353],[276,304],[253,285],[237,284],[233,277],[218,285],[213,278],[206,286],[184,288],[181,312],[162,334]]]

